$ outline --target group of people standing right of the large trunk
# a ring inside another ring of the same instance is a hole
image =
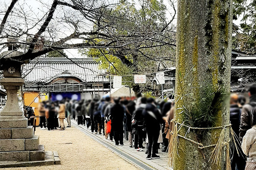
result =
[[[256,83],[247,90],[249,101],[243,95],[230,95],[230,123],[235,132],[232,145],[231,169],[256,170]],[[237,147],[237,149],[236,149]],[[238,151],[237,151],[238,150]]]

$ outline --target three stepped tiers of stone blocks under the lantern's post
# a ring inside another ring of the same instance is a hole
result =
[[[44,145],[33,136],[32,126],[0,128],[0,161],[44,161],[44,157]]]

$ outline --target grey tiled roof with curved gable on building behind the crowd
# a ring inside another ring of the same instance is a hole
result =
[[[45,83],[56,77],[76,77],[83,82],[109,82],[93,58],[37,58],[23,67],[26,83]]]

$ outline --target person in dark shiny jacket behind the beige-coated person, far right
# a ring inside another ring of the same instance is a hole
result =
[[[250,96],[250,102],[244,105],[241,111],[239,129],[240,141],[242,141],[246,131],[253,126],[253,122],[256,121],[256,117],[251,113],[251,111],[256,108],[256,82],[250,84],[248,95]]]

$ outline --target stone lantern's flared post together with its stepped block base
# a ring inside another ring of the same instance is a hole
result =
[[[24,84],[21,78],[0,79],[7,91],[5,108],[0,113],[0,161],[44,161],[44,146],[33,136],[33,127],[18,105],[17,90]]]

